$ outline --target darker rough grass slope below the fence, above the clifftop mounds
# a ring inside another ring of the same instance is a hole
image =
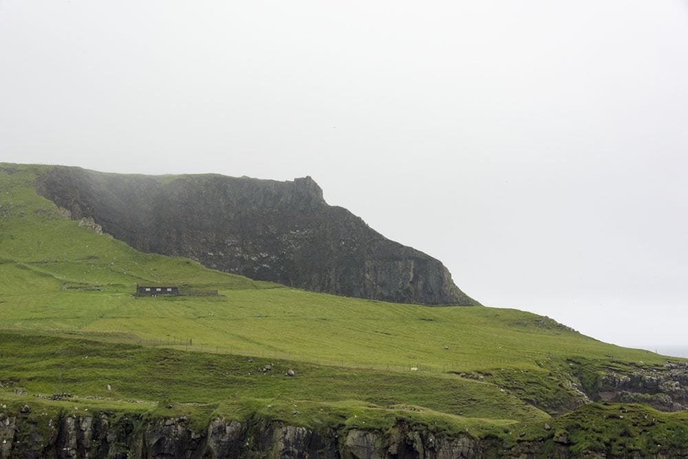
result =
[[[549,417],[498,387],[456,377],[142,348],[32,332],[0,332],[0,339],[4,381],[21,381],[21,387],[32,394],[67,392],[210,404],[259,400],[265,405],[310,401],[320,406],[358,401],[372,409],[371,416],[393,405],[409,404],[472,425],[475,422],[469,418],[504,425]],[[258,371],[265,365],[271,369]],[[289,369],[296,376],[286,376]],[[418,384],[426,390],[419,391]],[[305,416],[297,420],[305,422]]]

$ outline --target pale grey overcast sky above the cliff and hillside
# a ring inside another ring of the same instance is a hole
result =
[[[0,160],[311,175],[488,306],[688,348],[685,0],[0,0]]]

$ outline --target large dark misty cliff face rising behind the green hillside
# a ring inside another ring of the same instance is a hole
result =
[[[287,286],[401,303],[476,305],[440,261],[328,205],[310,177],[120,175],[54,167],[36,187],[144,252]]]

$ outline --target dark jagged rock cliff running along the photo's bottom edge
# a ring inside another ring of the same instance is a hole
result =
[[[45,424],[45,425],[44,425]],[[31,419],[0,414],[0,459],[6,458],[319,458],[319,459],[488,459],[572,458],[566,431],[554,441],[519,441],[469,434],[440,436],[398,423],[390,431],[313,431],[266,420],[240,423],[215,418],[195,430],[186,418],[144,420],[105,414],[62,414]],[[617,451],[618,453],[618,451]],[[585,457],[607,457],[592,453]],[[621,456],[619,456],[621,457]],[[627,458],[688,457],[688,449],[667,447],[657,454],[628,451]]]

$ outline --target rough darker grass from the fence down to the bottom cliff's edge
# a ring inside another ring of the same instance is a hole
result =
[[[456,377],[352,371],[34,332],[0,332],[0,343],[0,414],[17,414],[28,405],[31,414],[25,416],[39,424],[67,414],[100,412],[111,420],[186,416],[198,431],[212,418],[262,419],[316,430],[385,431],[403,422],[436,435],[468,432],[475,438],[502,438],[506,445],[568,442],[574,453],[609,451],[619,456],[628,451],[661,453],[682,447],[688,439],[688,412],[594,403],[550,418],[516,394]],[[268,364],[268,372],[257,371]],[[295,369],[294,376],[287,376],[287,369]],[[72,392],[50,400],[56,389]]]

